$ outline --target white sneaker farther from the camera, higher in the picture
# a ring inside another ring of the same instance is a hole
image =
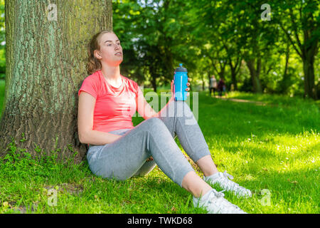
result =
[[[228,179],[230,178],[230,180]],[[247,190],[245,187],[241,187],[237,183],[231,181],[233,180],[233,176],[225,172],[218,172],[218,175],[213,177],[203,177],[203,180],[209,182],[211,185],[218,184],[226,191],[233,192],[233,194],[238,197],[251,197],[252,193],[250,190]]]

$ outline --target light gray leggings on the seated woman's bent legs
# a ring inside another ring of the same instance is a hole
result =
[[[110,132],[122,138],[105,145],[90,145],[87,162],[97,176],[126,180],[146,175],[156,165],[176,184],[194,171],[174,141],[178,140],[189,157],[196,162],[210,155],[196,119],[184,101],[171,101],[159,118],[149,118],[132,129]],[[150,156],[154,160],[146,161]]]

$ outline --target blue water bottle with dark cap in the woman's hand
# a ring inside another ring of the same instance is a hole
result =
[[[179,63],[179,67],[174,71],[174,100],[186,100],[188,83],[188,71]]]

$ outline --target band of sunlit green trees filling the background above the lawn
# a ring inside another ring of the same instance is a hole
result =
[[[122,73],[154,90],[183,63],[193,86],[320,97],[318,1],[117,0],[113,26]]]

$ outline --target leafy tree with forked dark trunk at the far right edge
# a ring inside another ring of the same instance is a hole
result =
[[[304,71],[304,97],[317,98],[314,63],[319,52],[319,1],[276,1],[274,21],[302,59]]]

